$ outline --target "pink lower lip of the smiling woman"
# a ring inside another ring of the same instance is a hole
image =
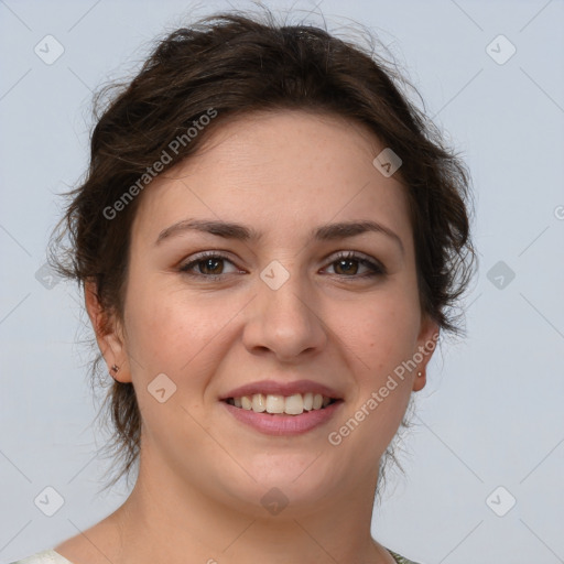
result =
[[[341,400],[327,405],[323,410],[304,411],[301,415],[256,413],[252,410],[236,408],[221,402],[234,417],[264,433],[265,435],[301,435],[327,423],[343,403]]]

